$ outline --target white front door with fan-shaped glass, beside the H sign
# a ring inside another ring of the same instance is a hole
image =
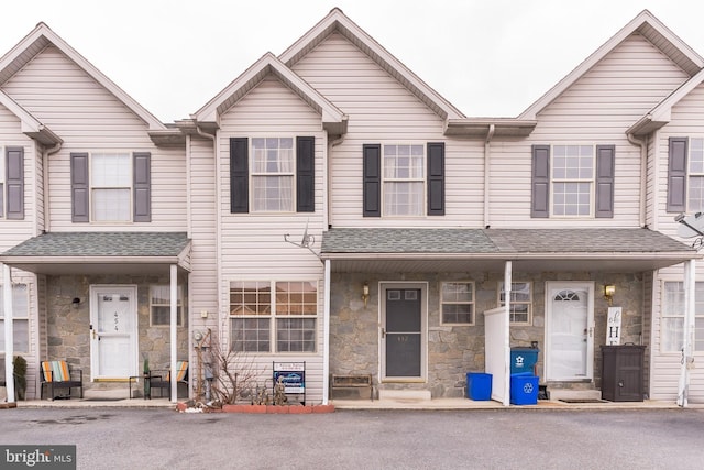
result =
[[[546,348],[546,380],[594,376],[594,283],[547,283]]]

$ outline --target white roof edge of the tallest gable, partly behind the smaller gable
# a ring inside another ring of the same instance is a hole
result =
[[[430,88],[430,86],[416,76],[416,74],[388,51],[382,47],[382,45],[364,30],[345,17],[339,8],[333,8],[326,18],[284,51],[279,56],[280,61],[286,64],[286,66],[293,67],[333,32],[338,32],[346,37],[442,119],[464,118],[462,112],[442,98],[436,90]]]

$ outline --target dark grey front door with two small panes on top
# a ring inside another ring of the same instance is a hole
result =
[[[382,376],[418,381],[424,376],[425,335],[421,288],[387,287],[382,328]]]

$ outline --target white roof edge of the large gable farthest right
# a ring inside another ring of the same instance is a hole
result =
[[[652,13],[648,10],[644,10],[604,45],[590,55],[574,70],[568,74],[568,76],[526,109],[519,116],[519,119],[536,119],[536,116],[540,111],[570,88],[590,68],[603,59],[626,37],[636,32],[642,34],[690,76],[696,75],[702,67],[704,67],[704,58],[702,58],[693,48],[670,31]]]

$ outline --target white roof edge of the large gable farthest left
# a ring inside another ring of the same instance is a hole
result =
[[[0,87],[2,87],[8,79],[10,79],[50,45],[54,45],[62,51],[68,58],[76,63],[76,65],[90,75],[90,77],[110,91],[117,99],[123,102],[124,106],[127,106],[148,125],[150,131],[162,131],[163,133],[167,130],[158,119],[144,109],[131,96],[124,92],[124,90],[118,87],[112,80],[103,75],[102,72],[98,70],[90,62],[76,52],[45,23],[38,23],[30,34],[24,36],[24,39],[22,39],[6,55],[0,57]]]

